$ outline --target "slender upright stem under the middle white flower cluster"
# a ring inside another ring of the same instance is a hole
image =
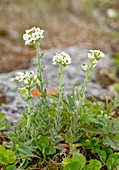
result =
[[[59,82],[60,82],[60,88],[59,88],[59,104],[62,102],[62,70],[63,66],[60,64],[60,71],[59,71]]]

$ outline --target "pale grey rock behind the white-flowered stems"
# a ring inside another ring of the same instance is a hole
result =
[[[45,65],[44,78],[47,79],[46,88],[48,90],[51,90],[53,87],[57,87],[59,85],[58,83],[59,66],[52,65],[52,57],[56,52],[62,51],[68,52],[72,58],[72,64],[67,66],[63,71],[63,82],[65,83],[64,92],[68,94],[71,93],[72,86],[74,82],[76,82],[77,80],[79,80],[77,88],[79,89],[81,88],[81,85],[84,81],[84,73],[82,72],[80,65],[88,62],[87,59],[88,49],[74,46],[63,49],[51,49],[44,52],[42,63],[43,65]],[[34,58],[34,60],[36,60],[36,58]],[[98,69],[101,68],[109,69],[110,67],[112,68],[113,66],[111,63],[112,63],[111,56],[106,54],[106,57],[103,58],[102,61],[100,61],[100,63],[98,63],[98,65],[95,67],[92,73],[92,77],[95,78]],[[29,71],[36,70],[36,67],[31,64],[28,70]],[[21,99],[20,95],[17,92],[19,84],[11,81],[11,78],[15,77],[17,72],[18,70],[9,73],[3,73],[0,75],[0,87],[4,89],[7,98],[7,105],[4,107],[3,106],[0,107],[0,111],[2,112],[21,114],[24,108],[27,106],[27,103],[25,103]],[[109,91],[109,88],[104,89],[99,84],[96,84],[94,82],[88,83],[88,87],[86,90],[87,96],[89,95],[98,96],[99,94],[106,93],[113,93],[113,91]]]

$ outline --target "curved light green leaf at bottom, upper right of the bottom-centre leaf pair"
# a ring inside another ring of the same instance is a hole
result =
[[[81,153],[75,152],[72,157],[73,161],[77,161],[80,164],[80,170],[82,170],[86,164],[86,158]]]

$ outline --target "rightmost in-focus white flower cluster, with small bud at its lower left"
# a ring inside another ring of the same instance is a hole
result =
[[[88,59],[91,63],[90,69],[92,70],[96,66],[96,64],[100,61],[100,59],[104,57],[105,57],[105,54],[102,51],[90,50],[88,53]],[[83,72],[86,72],[89,67],[87,64],[82,64],[81,68]]]

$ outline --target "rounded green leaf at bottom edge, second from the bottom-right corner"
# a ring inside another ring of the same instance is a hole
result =
[[[100,170],[102,164],[96,159],[91,159],[89,164],[85,166],[85,170]]]

